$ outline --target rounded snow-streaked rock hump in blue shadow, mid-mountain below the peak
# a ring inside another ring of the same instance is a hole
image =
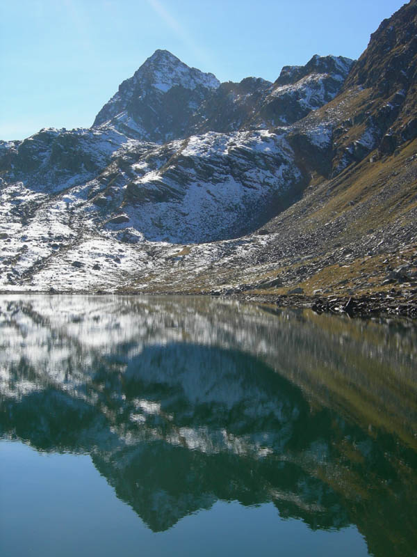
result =
[[[176,243],[237,236],[259,222],[277,194],[301,180],[284,136],[267,130],[211,132],[164,150],[170,158],[162,167],[154,163],[154,152],[152,162],[142,157],[128,178],[117,181],[122,222],[112,222],[116,217],[107,228],[134,228],[148,240]]]

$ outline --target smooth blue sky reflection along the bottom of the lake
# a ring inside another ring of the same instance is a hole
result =
[[[30,469],[30,473],[28,473]],[[368,555],[357,528],[312,531],[283,520],[272,503],[217,501],[154,533],[117,497],[84,455],[1,449],[2,555]]]

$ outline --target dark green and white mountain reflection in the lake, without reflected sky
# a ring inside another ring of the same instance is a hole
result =
[[[208,298],[0,297],[0,433],[153,531],[218,500],[417,548],[417,331]]]

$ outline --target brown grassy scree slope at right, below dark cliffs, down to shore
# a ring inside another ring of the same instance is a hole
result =
[[[417,140],[376,162],[370,162],[371,153],[336,178],[312,185],[264,227],[270,232],[265,244],[247,257],[219,242],[224,256],[209,265],[202,262],[195,273],[190,272],[190,257],[202,248],[179,246],[176,255],[185,256],[183,262],[147,276],[146,290],[205,292],[238,285],[256,285],[247,292],[277,295],[295,286],[306,295],[318,289],[327,295],[390,290],[392,284],[382,285],[389,268],[417,260],[416,152]],[[277,276],[281,286],[260,287]]]

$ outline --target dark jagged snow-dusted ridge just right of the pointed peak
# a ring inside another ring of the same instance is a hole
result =
[[[221,84],[195,113],[190,131],[231,132],[293,124],[336,96],[352,63],[343,56],[313,56],[304,66],[284,68],[273,84],[254,77]]]

